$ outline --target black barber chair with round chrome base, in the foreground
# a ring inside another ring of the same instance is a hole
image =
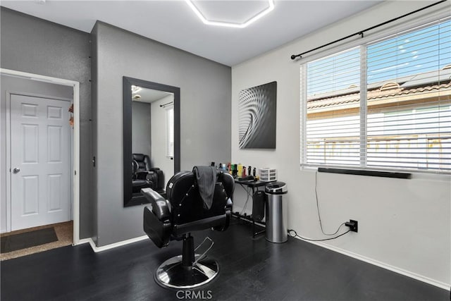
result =
[[[167,199],[149,188],[142,190],[151,203],[144,207],[144,232],[160,248],[166,247],[170,240],[183,240],[182,255],[166,260],[155,272],[156,283],[163,287],[197,288],[218,275],[216,261],[205,257],[205,253],[194,253],[191,236],[193,231],[228,228],[235,182],[228,173],[216,170],[214,173],[216,183],[213,183],[213,202],[209,209],[199,192],[197,176],[190,171],[177,173],[169,180]]]

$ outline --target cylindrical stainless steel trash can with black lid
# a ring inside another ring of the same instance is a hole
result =
[[[266,193],[266,240],[270,242],[286,242],[287,204],[283,195],[287,194],[287,185],[283,182],[271,182],[265,187]]]

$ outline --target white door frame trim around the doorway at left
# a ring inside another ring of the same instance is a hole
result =
[[[69,87],[73,87],[73,142],[71,144],[73,153],[73,166],[72,166],[72,175],[73,183],[72,183],[72,213],[73,213],[73,245],[78,245],[80,242],[80,82],[76,82],[74,80],[65,80],[62,78],[52,78],[50,76],[38,75],[33,73],[26,73],[16,70],[4,69],[0,68],[0,74],[2,75],[10,75],[18,78],[26,78],[27,80],[37,80],[40,82],[49,82],[57,85],[65,85]],[[16,93],[13,93],[16,94]],[[8,125],[8,121],[11,122],[11,119],[8,119],[8,114],[6,126]],[[11,150],[10,150],[11,152]],[[9,164],[11,165],[11,164]],[[8,166],[6,166],[8,168]],[[8,181],[6,185],[6,204],[8,206],[8,202],[11,202],[11,172],[7,174],[6,180]],[[10,215],[11,219],[11,215]],[[11,227],[11,223],[9,226]]]

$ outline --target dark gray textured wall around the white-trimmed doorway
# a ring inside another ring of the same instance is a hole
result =
[[[1,68],[80,82],[80,238],[93,233],[89,34],[0,8]]]

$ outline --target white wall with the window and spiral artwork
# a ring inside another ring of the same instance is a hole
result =
[[[299,65],[302,60],[292,61],[290,55],[427,4],[431,2],[385,1],[232,68],[232,161],[278,169],[279,180],[288,185],[288,228],[299,235],[324,238],[316,210],[315,171],[299,169]],[[449,15],[449,4],[445,5],[447,7],[442,6],[438,12],[436,8],[432,11]],[[420,15],[410,20],[430,18],[431,10],[429,16]],[[398,24],[405,25],[407,20]],[[371,38],[371,33],[366,33],[366,37]],[[238,93],[273,80],[278,82],[276,150],[239,149]],[[325,231],[333,233],[340,223],[349,219],[359,221],[359,233],[321,244],[449,289],[450,183],[449,176],[438,175],[414,174],[411,180],[402,180],[319,173],[319,207]],[[242,209],[244,199],[244,191],[237,187],[234,211]]]

